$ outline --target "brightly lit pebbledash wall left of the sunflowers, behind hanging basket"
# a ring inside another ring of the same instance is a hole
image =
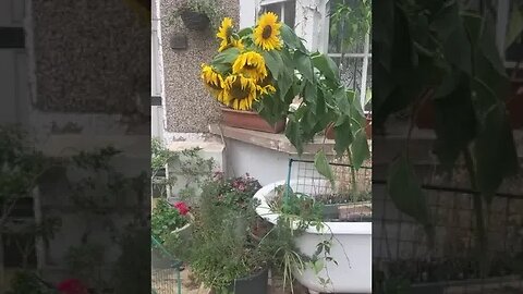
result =
[[[219,103],[208,94],[199,79],[200,65],[217,53],[216,32],[191,32],[181,20],[170,22],[171,14],[182,3],[180,0],[162,0],[161,41],[165,75],[165,103],[167,131],[173,133],[208,132],[208,125],[220,119]],[[217,0],[217,9],[239,24],[239,0]],[[184,34],[187,48],[173,50],[170,38]]]

